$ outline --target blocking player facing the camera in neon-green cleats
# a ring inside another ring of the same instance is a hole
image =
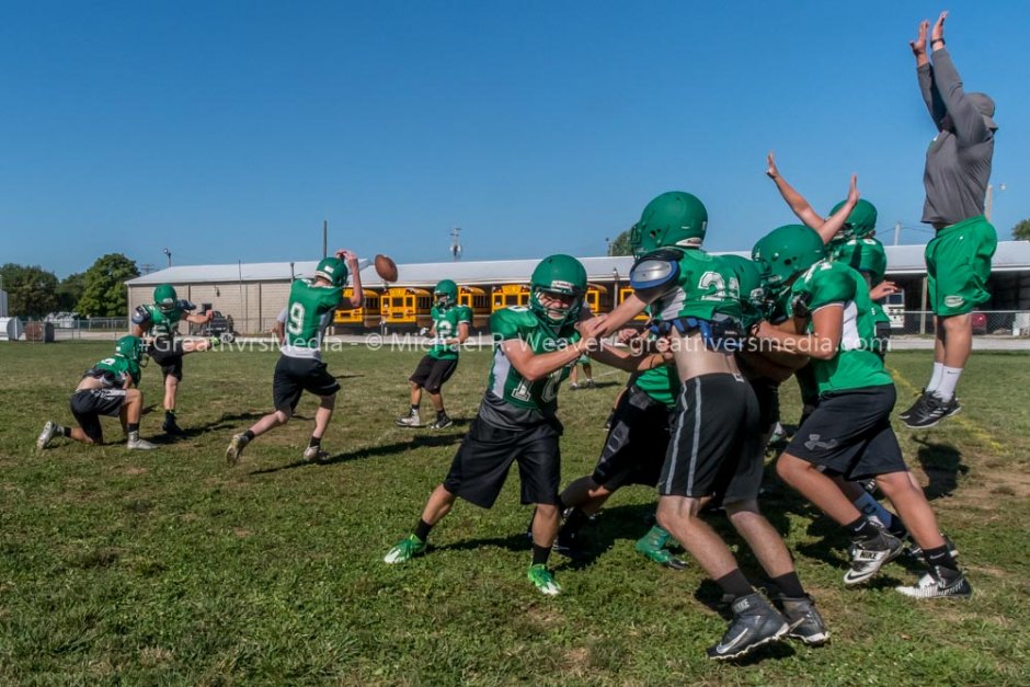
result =
[[[510,307],[491,316],[494,356],[479,413],[414,531],[389,550],[385,562],[403,563],[425,552],[430,531],[459,496],[491,507],[517,462],[522,502],[536,504],[529,581],[543,594],[561,592],[547,566],[560,504],[558,390],[569,366],[596,345],[604,322],[580,322],[590,317],[582,308],[586,270],[574,257],[545,257],[533,272],[530,289],[528,308]]]

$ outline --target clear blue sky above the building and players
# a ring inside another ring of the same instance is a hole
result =
[[[902,7],[903,9],[899,9]],[[7,2],[0,262],[599,255],[690,191],[707,247],[828,209],[859,174],[881,238],[923,243],[934,127],[907,42],[951,14],[998,104],[1002,238],[1030,217],[1030,3]]]

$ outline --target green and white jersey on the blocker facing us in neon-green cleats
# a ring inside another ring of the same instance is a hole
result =
[[[520,339],[535,354],[552,353],[580,340],[575,327],[568,324],[556,332],[529,308],[513,306],[497,310],[490,317],[490,331],[494,340],[493,364],[490,366],[487,393],[479,409],[480,417],[506,430],[525,428],[553,417],[558,410],[558,389],[575,362],[554,370],[545,379],[528,381],[504,355],[501,344]]]

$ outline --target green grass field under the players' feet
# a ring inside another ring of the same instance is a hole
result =
[[[394,427],[419,354],[329,353],[344,391],[324,440],[300,459],[314,402],[227,468],[225,447],[271,405],[276,354],[208,353],[185,363],[180,423],[190,437],[151,453],[34,442],[69,423],[78,376],[111,344],[0,348],[0,684],[1027,684],[1030,682],[1030,356],[977,353],[965,408],[937,430],[899,431],[975,587],[966,602],[917,603],[892,563],[845,589],[846,540],[782,486],[764,507],[796,553],[829,623],[829,645],[780,644],[743,664],[703,649],[725,622],[696,564],[639,558],[653,492],[619,492],[587,534],[596,557],[553,557],[564,594],[525,577],[529,516],[510,479],[497,505],[459,502],[435,546],[408,565],[380,562],[414,525],[476,412],[485,352],[464,354],[445,388],[457,426]],[[928,353],[891,354],[899,403],[924,381]],[[561,393],[563,477],[588,473],[625,380]],[[145,369],[141,435],[158,434],[160,371]],[[426,401],[426,409],[428,409]],[[785,421],[798,415],[793,382]],[[121,440],[116,421],[105,421]],[[718,516],[713,522],[722,527]],[[735,539],[732,539],[735,541]],[[748,572],[754,560],[740,556]],[[756,573],[757,574],[757,573]]]

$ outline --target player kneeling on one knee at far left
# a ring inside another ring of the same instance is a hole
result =
[[[47,421],[36,439],[36,448],[43,450],[55,436],[65,436],[83,444],[103,444],[101,415],[118,416],[122,428],[128,436],[126,448],[157,448],[150,442],[139,438],[139,415],[142,412],[144,394],[137,387],[142,377],[142,356],[144,342],[139,337],[118,339],[114,345],[114,355],[85,370],[75,393],[71,394],[71,414],[79,426],[69,427]]]

